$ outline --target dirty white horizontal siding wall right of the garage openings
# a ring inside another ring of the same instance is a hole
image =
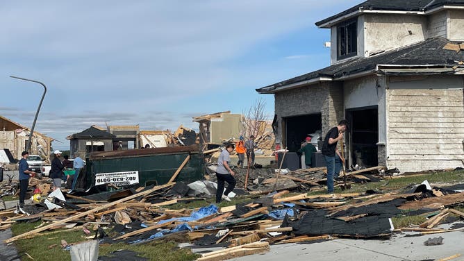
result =
[[[462,160],[463,89],[388,90],[388,167],[447,169],[463,167]]]

